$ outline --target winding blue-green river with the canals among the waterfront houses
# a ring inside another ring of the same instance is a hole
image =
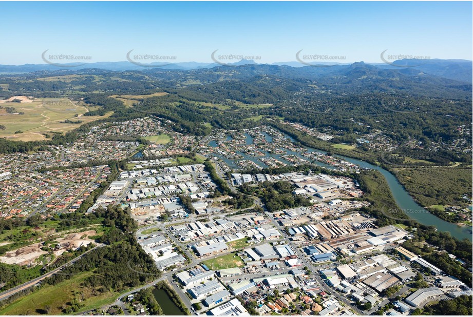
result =
[[[266,133],[263,133],[263,134],[265,134],[264,137],[266,138],[266,140],[268,142],[271,143],[273,141],[272,137],[270,135],[268,135]],[[247,145],[252,144],[253,143],[253,138],[247,133],[245,133],[245,136],[246,136],[245,143]],[[295,142],[294,138],[292,138],[290,135],[284,134],[284,136],[286,138],[288,138],[291,142]],[[217,143],[215,141],[212,141],[211,143],[209,143],[209,146],[216,147]],[[324,153],[324,154],[327,153],[326,151],[323,151],[323,150],[313,149],[313,148],[309,148],[309,147],[304,147],[304,148],[309,152],[314,152],[315,151],[315,152]],[[292,151],[287,151],[287,152],[288,152],[287,154],[294,154],[294,155],[297,155],[299,157],[302,157],[300,155],[300,153],[292,152]],[[244,157],[244,160],[253,161],[261,167],[265,167],[265,168],[268,167],[267,165],[263,164],[261,161],[258,161],[257,157],[250,157],[250,156],[248,156],[248,155],[246,155],[242,152],[239,152],[239,151],[237,151],[237,153],[241,154]],[[281,159],[280,155],[278,155],[278,154],[270,154],[270,153],[266,153],[266,154],[267,154],[267,156],[275,157],[277,160],[279,160],[283,163],[291,164],[290,162],[287,162],[287,161]],[[224,157],[219,156],[219,155],[217,155],[217,156],[220,157],[229,166],[231,166],[233,168],[237,167],[234,160],[228,160],[228,159],[225,159]],[[335,155],[335,156],[338,156],[338,155]],[[409,215],[409,217],[411,219],[413,219],[413,220],[415,220],[415,221],[417,221],[417,222],[419,222],[420,224],[423,224],[423,225],[435,226],[440,231],[448,231],[448,232],[450,232],[450,234],[452,236],[456,237],[457,239],[462,240],[464,238],[467,238],[468,240],[472,241],[471,227],[469,227],[469,226],[459,226],[459,225],[454,224],[454,223],[449,223],[447,221],[444,221],[444,220],[438,218],[436,215],[431,214],[428,210],[424,209],[422,206],[417,204],[413,200],[413,198],[409,195],[409,193],[404,189],[404,187],[399,183],[399,181],[396,179],[396,177],[393,174],[391,174],[390,172],[388,172],[387,170],[385,170],[385,169],[383,169],[379,166],[367,163],[365,161],[351,159],[350,157],[346,157],[346,156],[343,156],[343,157],[338,156],[338,157],[342,158],[344,161],[350,162],[352,164],[356,164],[356,165],[358,165],[362,168],[374,169],[374,170],[379,171],[381,174],[383,174],[383,176],[386,178],[386,181],[388,183],[388,186],[391,190],[392,196],[394,197],[394,200],[395,200],[396,204],[398,204],[399,208],[402,209],[404,213]],[[333,166],[326,165],[326,164],[316,162],[316,161],[314,162],[314,164],[316,164],[318,166],[326,167],[326,168],[331,168],[331,169],[334,168]]]

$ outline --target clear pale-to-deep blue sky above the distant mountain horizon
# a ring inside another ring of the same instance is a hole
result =
[[[211,53],[295,61],[295,54],[381,63],[380,54],[472,59],[471,2],[0,2],[0,64],[41,54],[125,61],[126,53],[211,62]]]

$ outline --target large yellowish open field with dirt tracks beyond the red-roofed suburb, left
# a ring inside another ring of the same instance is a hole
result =
[[[104,116],[83,116],[87,108],[76,105],[66,98],[35,98],[29,103],[0,103],[2,107],[13,107],[24,114],[9,114],[5,109],[0,109],[0,125],[6,127],[0,130],[0,137],[13,141],[39,141],[46,140],[42,132],[54,131],[65,133],[80,126],[80,124],[60,123],[66,119],[80,120],[88,123],[100,118],[108,117],[113,112]],[[78,114],[78,117],[74,115]],[[21,131],[22,133],[15,133]]]

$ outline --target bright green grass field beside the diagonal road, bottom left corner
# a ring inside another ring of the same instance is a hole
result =
[[[84,307],[81,311],[97,308],[111,303],[118,296],[116,293],[106,292],[99,296],[92,295],[92,289],[81,286],[81,283],[92,273],[84,272],[75,275],[54,286],[46,286],[36,290],[32,294],[24,296],[0,311],[2,315],[39,315],[47,313],[50,315],[63,314],[63,309],[71,307],[74,301],[80,301]],[[81,295],[82,294],[82,295]],[[84,300],[82,300],[82,296]]]

